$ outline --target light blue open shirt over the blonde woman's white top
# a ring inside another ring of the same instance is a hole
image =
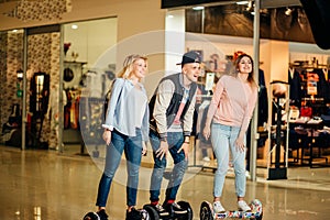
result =
[[[142,91],[146,96],[145,88],[140,84]],[[130,91],[134,88],[134,85],[123,78],[117,78],[113,82],[110,101],[106,114],[106,122],[102,128],[116,129],[120,133],[128,136],[135,136],[135,103],[134,99],[129,99]],[[148,105],[145,105],[145,111],[142,120],[142,140],[148,141]]]

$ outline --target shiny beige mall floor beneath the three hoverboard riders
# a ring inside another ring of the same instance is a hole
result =
[[[79,220],[86,212],[96,210],[103,161],[68,154],[67,151],[63,154],[45,150],[22,152],[0,146],[1,220]],[[150,174],[150,167],[141,168],[139,207],[148,202]],[[257,180],[248,180],[246,188],[246,200],[257,198],[262,201],[264,220],[329,219],[329,168],[294,167],[288,168],[288,179],[266,178],[266,169],[258,168]],[[125,166],[122,163],[107,205],[112,220],[124,219],[124,184]],[[190,202],[194,219],[199,219],[200,204],[212,199],[212,172],[188,168],[178,199]],[[227,209],[235,209],[234,178],[230,174],[222,204]]]

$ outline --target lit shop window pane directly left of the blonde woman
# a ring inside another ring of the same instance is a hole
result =
[[[116,70],[116,54],[107,51],[116,43],[117,18],[64,24],[64,153],[99,152],[103,145],[102,105]]]

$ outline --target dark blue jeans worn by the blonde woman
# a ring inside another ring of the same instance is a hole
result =
[[[113,130],[111,132],[111,143],[107,146],[106,165],[99,183],[98,198],[96,205],[106,207],[110,186],[121,161],[122,152],[127,158],[127,205],[136,205],[136,194],[139,185],[139,169],[142,157],[142,133],[136,129],[135,136],[127,136]]]

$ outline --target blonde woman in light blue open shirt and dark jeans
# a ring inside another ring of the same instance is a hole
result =
[[[130,55],[114,80],[106,114],[103,140],[107,144],[106,165],[99,183],[98,216],[108,219],[106,204],[111,183],[124,152],[127,157],[127,219],[140,212],[135,209],[141,156],[148,140],[148,106],[144,86],[147,58]]]

